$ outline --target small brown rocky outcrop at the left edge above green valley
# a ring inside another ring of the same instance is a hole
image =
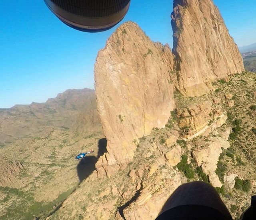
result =
[[[8,162],[0,155],[0,167],[0,186],[5,187],[12,183],[22,170],[23,165],[17,161]]]

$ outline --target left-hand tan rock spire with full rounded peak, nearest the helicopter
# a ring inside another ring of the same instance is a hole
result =
[[[127,22],[108,39],[95,64],[98,112],[108,139],[96,167],[111,175],[132,160],[138,138],[162,128],[174,108],[173,55]]]

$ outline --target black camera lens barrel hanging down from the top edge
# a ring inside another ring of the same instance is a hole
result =
[[[44,0],[66,25],[85,32],[106,31],[128,12],[131,0]]]

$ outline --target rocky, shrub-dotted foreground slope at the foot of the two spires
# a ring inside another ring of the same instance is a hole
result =
[[[110,178],[91,175],[49,219],[154,220],[176,187],[196,180],[214,185],[238,219],[256,191],[255,82],[246,72],[201,97],[175,92],[166,127],[140,138],[134,160]]]

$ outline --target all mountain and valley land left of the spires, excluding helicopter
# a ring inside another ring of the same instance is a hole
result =
[[[93,90],[67,90],[46,103],[0,110],[0,120],[1,219],[46,218],[106,151]],[[91,149],[85,161],[74,159]]]

